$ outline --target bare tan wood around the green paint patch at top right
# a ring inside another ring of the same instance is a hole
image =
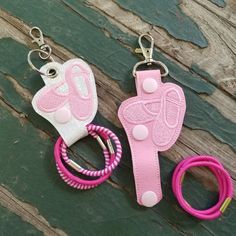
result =
[[[115,21],[112,21],[113,23],[118,27],[121,25],[129,33],[137,32],[140,34],[143,32],[150,32],[155,38],[157,47],[162,52],[175,58],[182,66],[192,68],[194,71],[194,65],[198,65],[200,68],[209,72],[214,78],[213,81],[215,81],[215,83],[217,83],[221,88],[232,95],[235,94],[235,87],[227,87],[227,85],[223,83],[227,78],[235,78],[233,70],[235,63],[235,41],[231,36],[231,34],[235,35],[235,27],[232,27],[231,25],[229,26],[228,24],[225,25],[224,23],[231,19],[234,22],[234,14],[231,12],[231,9],[234,7],[234,1],[229,1],[229,5],[232,5],[232,7],[227,9],[228,14],[226,14],[227,12],[222,13],[224,11],[220,9],[219,12],[221,12],[222,15],[225,14],[223,21],[223,16],[219,17],[218,15],[215,15],[214,11],[216,11],[216,9],[208,10],[205,5],[202,6],[202,4],[200,5],[194,1],[181,2],[181,9],[183,9],[187,15],[190,15],[198,23],[200,29],[207,37],[209,46],[202,50],[199,50],[198,47],[191,43],[176,40],[162,28],[143,21],[143,15],[134,15],[130,12],[124,11],[113,1],[107,1],[105,4],[101,0],[88,0],[87,2],[91,4],[92,7],[102,10],[106,16],[111,16],[115,19]],[[202,2],[205,3],[206,0],[201,1],[201,3]],[[158,1],[155,2],[155,6],[158,9]],[[151,8],[152,5],[149,7]],[[194,10],[192,10],[193,8]],[[204,20],[202,20],[203,18]],[[211,28],[209,25],[206,25],[206,22],[214,22],[215,25]],[[222,35],[227,35],[227,37],[222,38]],[[222,65],[224,65],[224,70],[222,70]],[[199,73],[199,70],[196,70],[195,72]],[[205,77],[205,79],[207,79],[207,77]]]

